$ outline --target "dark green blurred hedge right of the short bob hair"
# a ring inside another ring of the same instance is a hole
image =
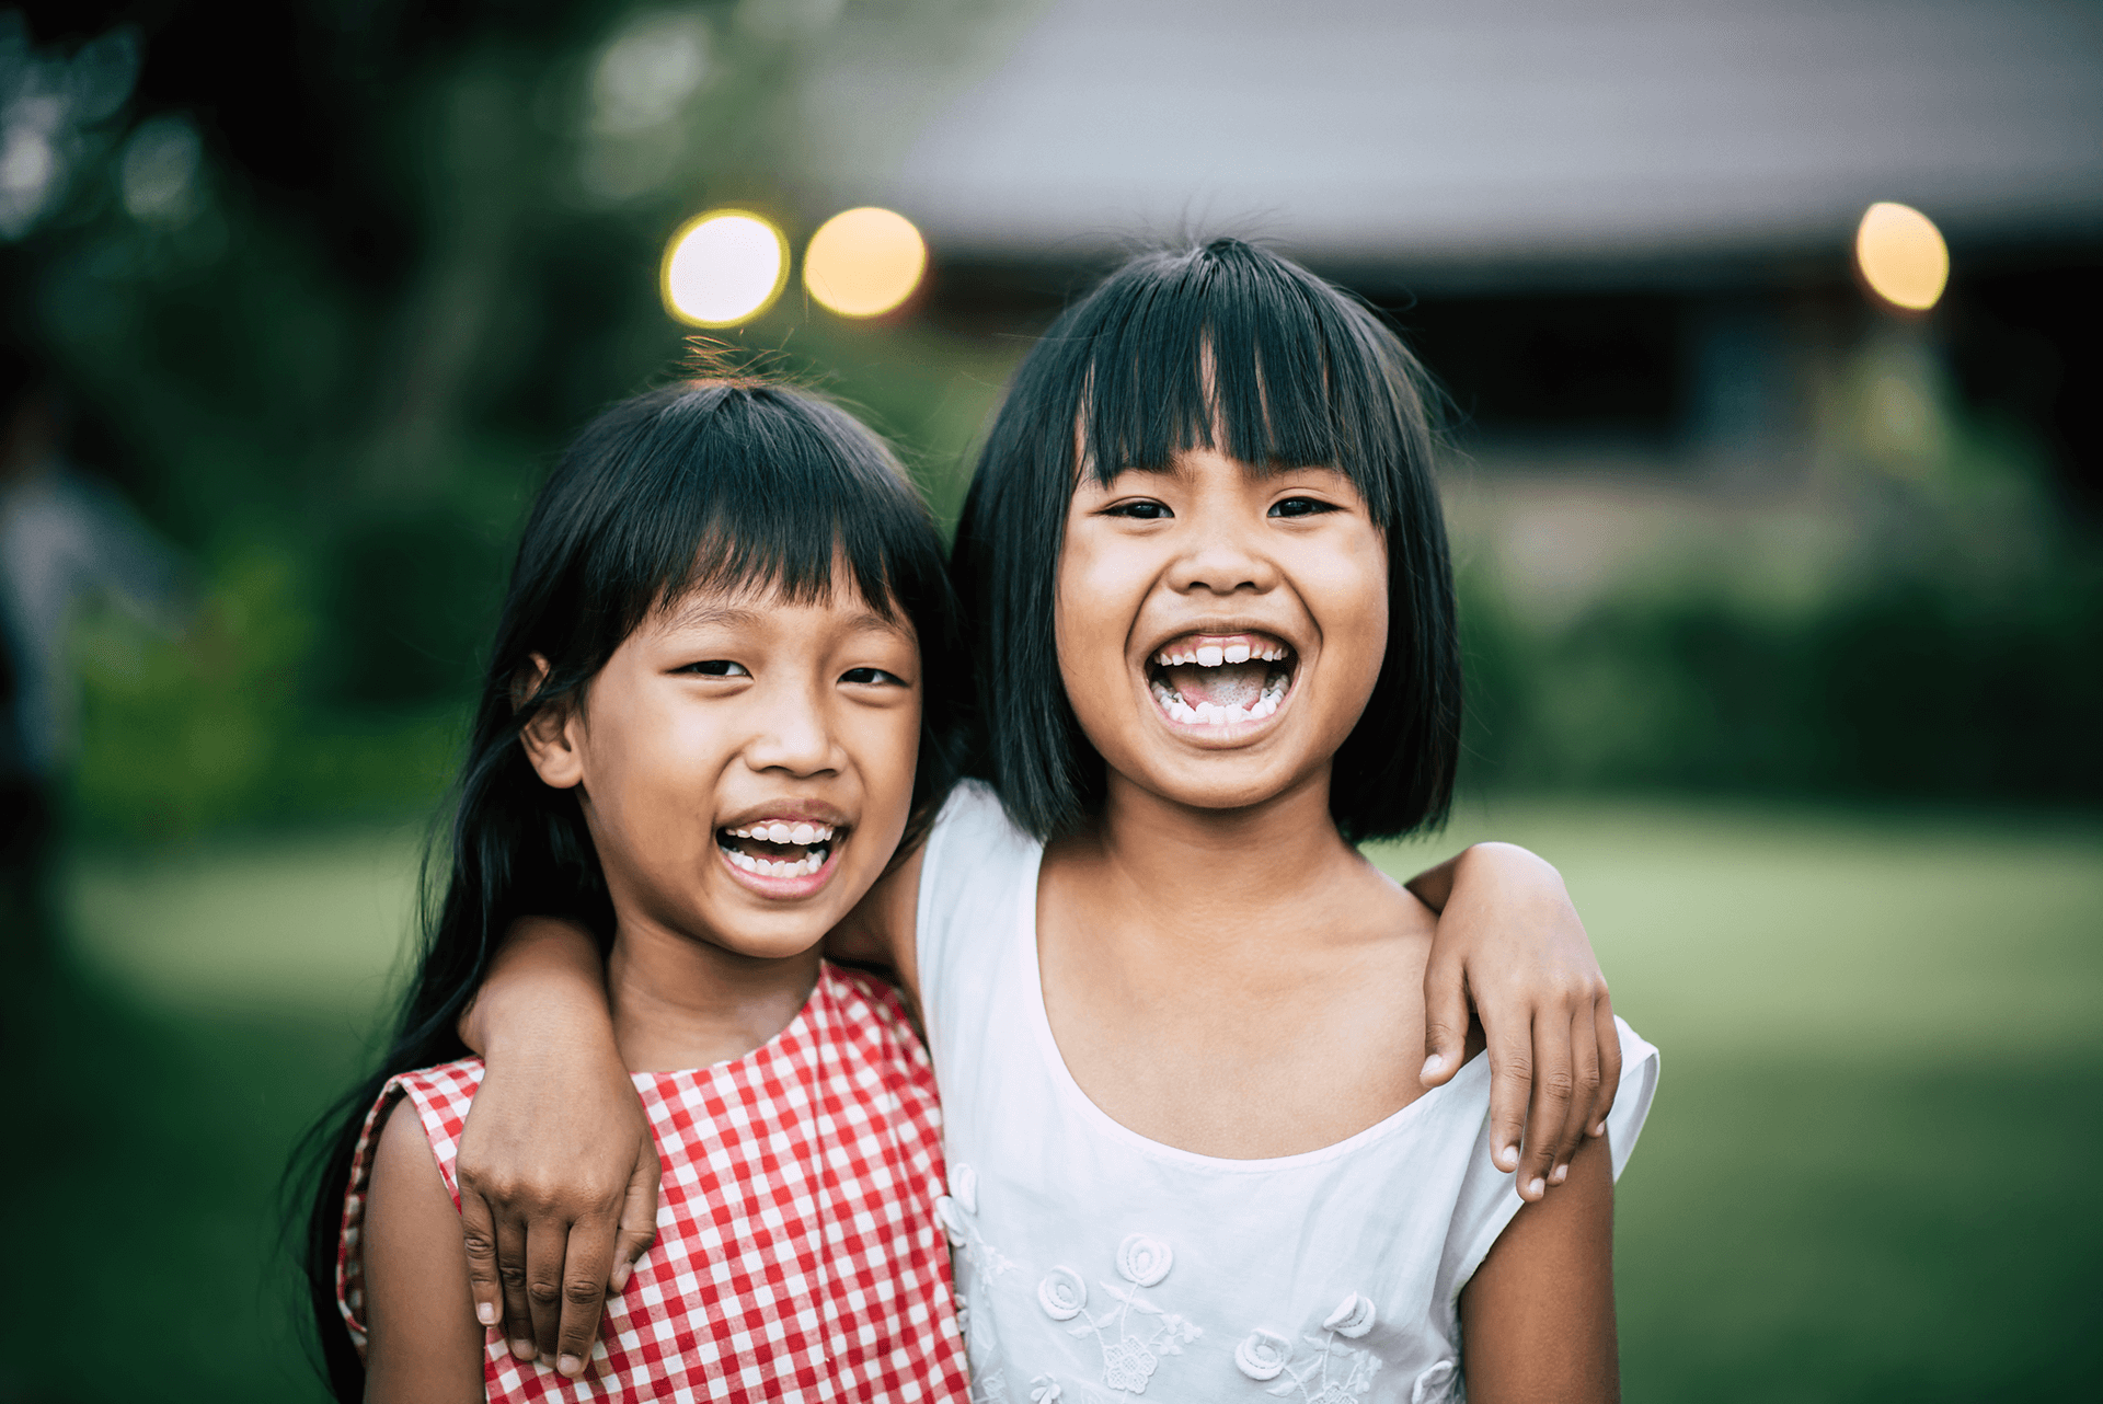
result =
[[[1792,616],[1630,589],[1560,626],[1462,586],[1476,784],[2103,799],[2103,570],[1867,578]]]

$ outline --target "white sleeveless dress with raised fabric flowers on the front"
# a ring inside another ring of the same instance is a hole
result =
[[[1523,1200],[1489,1160],[1489,1064],[1335,1145],[1220,1160],[1075,1085],[1037,971],[1043,845],[984,786],[927,841],[919,967],[974,1400],[1459,1400],[1459,1288]],[[1619,1177],[1657,1087],[1621,1030]],[[1249,1108],[1262,1116],[1264,1108]]]

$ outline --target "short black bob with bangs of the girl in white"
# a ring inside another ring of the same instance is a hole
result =
[[[1016,372],[953,553],[978,677],[974,769],[1009,818],[1049,839],[1102,801],[1102,757],[1066,700],[1054,643],[1079,475],[1165,471],[1178,450],[1205,446],[1258,473],[1335,467],[1365,498],[1388,546],[1388,649],[1335,755],[1329,813],[1350,843],[1438,824],[1459,759],[1462,679],[1432,404],[1377,313],[1241,240],[1142,254],[1066,309]]]

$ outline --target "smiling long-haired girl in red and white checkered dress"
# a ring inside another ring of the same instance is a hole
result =
[[[927,1055],[818,952],[944,790],[953,647],[934,523],[841,410],[696,380],[585,429],[519,542],[393,1038],[309,1137],[336,1398],[963,1398]],[[528,912],[604,952],[667,1171],[606,1333],[545,1362],[475,1322],[454,1166],[484,1072],[456,1024]]]

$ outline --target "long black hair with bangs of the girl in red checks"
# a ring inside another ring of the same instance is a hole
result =
[[[843,410],[759,380],[688,380],[627,399],[578,435],[534,502],[482,677],[446,847],[425,860],[423,948],[381,1066],[307,1135],[305,1278],[322,1364],[341,1400],[364,1364],[336,1309],[351,1156],[397,1072],[463,1057],[456,1021],[509,925],[570,916],[612,940],[612,902],[574,790],[540,782],[519,731],[583,700],[652,610],[707,586],[822,601],[835,561],[883,618],[913,624],[923,721],[913,788],[923,826],[951,778],[955,605],[942,538],[883,443]],[[547,677],[532,687],[532,656]],[[913,830],[908,828],[908,834]],[[442,895],[433,874],[444,872]]]

